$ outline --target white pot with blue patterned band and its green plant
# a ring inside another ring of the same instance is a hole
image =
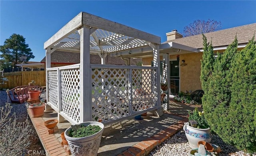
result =
[[[188,112],[188,114],[188,120],[190,122],[186,122],[183,129],[188,139],[189,146],[191,148],[197,148],[199,141],[210,142],[212,140],[210,135],[210,126],[204,118],[204,113],[198,111],[198,108],[195,108],[192,113]]]

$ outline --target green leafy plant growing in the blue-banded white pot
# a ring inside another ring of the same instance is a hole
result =
[[[188,115],[188,120],[195,120],[198,123],[196,128],[204,129],[210,127],[206,121],[206,118],[204,117],[204,112],[199,112],[197,107],[192,113],[188,111]]]

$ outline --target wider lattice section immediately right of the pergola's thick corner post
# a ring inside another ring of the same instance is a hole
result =
[[[128,69],[94,69],[92,71],[92,117],[112,120],[130,114]]]

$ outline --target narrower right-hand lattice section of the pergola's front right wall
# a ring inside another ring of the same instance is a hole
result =
[[[156,106],[156,71],[132,69],[132,111],[139,112]]]

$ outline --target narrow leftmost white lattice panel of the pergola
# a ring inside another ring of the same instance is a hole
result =
[[[56,108],[58,108],[58,77],[57,71],[48,71],[48,93],[49,93],[49,102]]]

